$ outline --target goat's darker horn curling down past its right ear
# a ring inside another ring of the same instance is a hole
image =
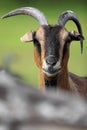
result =
[[[78,32],[81,35],[83,35],[81,24],[76,14],[71,10],[65,11],[59,16],[58,25],[64,26],[68,20],[72,20],[76,24]],[[80,40],[80,45],[81,45],[81,53],[82,53],[83,52],[83,39]]]

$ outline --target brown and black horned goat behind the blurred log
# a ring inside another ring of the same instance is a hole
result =
[[[37,31],[27,32],[21,40],[34,43],[34,58],[39,68],[39,84],[41,89],[68,90],[87,96],[87,77],[79,77],[68,72],[69,47],[72,41],[80,41],[83,51],[82,27],[76,14],[63,12],[56,25],[49,25],[45,15],[36,8],[22,7],[5,14],[2,18],[25,14],[34,17],[40,24]],[[64,26],[72,20],[78,32],[69,32]]]

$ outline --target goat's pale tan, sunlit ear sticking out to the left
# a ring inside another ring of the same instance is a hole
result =
[[[32,42],[33,41],[33,31],[27,32],[23,37],[20,38],[22,42]]]

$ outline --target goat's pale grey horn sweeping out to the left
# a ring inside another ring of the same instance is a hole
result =
[[[34,17],[40,23],[40,25],[48,25],[45,15],[41,11],[33,7],[22,7],[22,8],[15,9],[2,16],[2,18],[7,18],[19,14],[25,14]]]

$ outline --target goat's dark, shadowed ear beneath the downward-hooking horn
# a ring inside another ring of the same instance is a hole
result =
[[[73,40],[75,40],[75,41],[84,40],[84,37],[79,32],[72,31],[72,32],[69,33],[69,35],[70,35],[71,41],[73,41]]]

